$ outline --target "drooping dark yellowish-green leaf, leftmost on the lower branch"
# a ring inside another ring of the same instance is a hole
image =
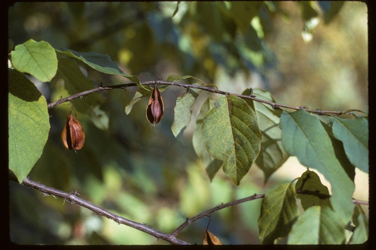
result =
[[[265,194],[257,221],[262,244],[273,244],[279,237],[287,236],[298,217],[295,188],[285,183]]]

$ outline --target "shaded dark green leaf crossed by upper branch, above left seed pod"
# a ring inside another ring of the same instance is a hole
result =
[[[64,79],[65,88],[71,95],[90,90],[94,88],[92,81],[85,77],[80,71],[76,60],[68,59],[67,57],[58,57],[59,66],[58,74]],[[91,106],[105,102],[105,99],[99,93],[91,93],[82,99],[75,99],[74,107],[80,112],[86,112]]]

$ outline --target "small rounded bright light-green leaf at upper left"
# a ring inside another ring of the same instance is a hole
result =
[[[30,39],[11,52],[12,64],[20,72],[33,75],[42,82],[51,81],[58,69],[58,59],[52,46],[45,41]]]

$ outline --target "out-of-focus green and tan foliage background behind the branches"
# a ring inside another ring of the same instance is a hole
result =
[[[193,75],[228,92],[259,87],[283,104],[368,111],[367,5],[333,3],[180,2],[174,16],[177,2],[15,3],[8,11],[8,52],[28,39],[44,40],[57,49],[109,54],[141,81]],[[93,87],[129,82],[83,64],[80,69]],[[70,95],[59,74],[50,83],[29,78],[47,102]],[[162,93],[165,116],[154,129],[145,117],[147,98],[124,113],[136,87],[127,90],[100,92],[106,103],[89,113],[76,110],[86,135],[78,154],[65,150],[60,137],[70,105],[50,110],[49,139],[30,179],[77,190],[83,199],[169,233],[186,217],[265,193],[305,171],[290,157],[265,185],[256,166],[237,187],[222,170],[210,182],[192,147],[195,119],[184,145],[171,132],[184,89]],[[193,117],[207,95],[197,98]],[[356,178],[354,197],[368,200],[368,175],[358,171]],[[10,239],[17,244],[168,244],[15,182],[9,188]],[[223,244],[259,244],[260,204],[215,212],[209,230]],[[201,244],[207,223],[194,222],[179,238]]]

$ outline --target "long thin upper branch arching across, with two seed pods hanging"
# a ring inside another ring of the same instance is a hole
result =
[[[225,92],[225,91],[222,91],[222,90],[212,89],[211,87],[197,86],[197,85],[191,85],[191,84],[185,84],[185,83],[175,83],[175,82],[162,81],[162,80],[161,81],[158,80],[158,83],[159,84],[179,86],[179,87],[185,87],[185,88],[202,89],[202,90],[205,90],[205,91],[209,91],[209,92],[212,92],[212,93],[218,93],[218,94],[221,94],[221,95],[235,95],[235,96],[238,96],[240,98],[251,99],[251,100],[254,100],[254,101],[269,104],[269,105],[271,105],[271,107],[273,107],[275,109],[280,109],[280,107],[290,108],[290,109],[294,109],[294,110],[304,109],[305,111],[317,113],[317,114],[324,114],[324,113],[347,114],[350,111],[358,111],[358,112],[361,112],[361,113],[365,113],[364,111],[358,110],[358,109],[350,109],[350,110],[345,110],[345,111],[313,110],[313,109],[309,109],[309,108],[302,108],[302,106],[294,107],[294,106],[289,106],[289,105],[285,105],[285,104],[279,104],[279,103],[276,103],[276,102],[265,101],[265,100],[255,98],[255,97],[250,96],[250,95],[240,95],[240,94],[235,94],[235,93],[229,93],[229,92]],[[141,82],[141,85],[153,85],[153,84],[155,84],[155,81]],[[86,91],[68,96],[66,98],[59,99],[56,102],[49,103],[47,106],[50,109],[50,108],[53,108],[53,107],[55,107],[55,106],[57,106],[57,105],[59,105],[63,102],[71,101],[73,99],[76,99],[76,98],[79,98],[79,97],[82,97],[82,96],[85,96],[85,95],[89,95],[91,93],[95,93],[95,92],[99,92],[99,91],[103,91],[103,90],[109,90],[109,89],[125,89],[126,87],[131,87],[131,86],[136,86],[136,83],[112,85],[112,86],[107,86],[107,87],[97,87],[95,89],[86,90]],[[367,114],[367,113],[365,113],[365,114]]]

